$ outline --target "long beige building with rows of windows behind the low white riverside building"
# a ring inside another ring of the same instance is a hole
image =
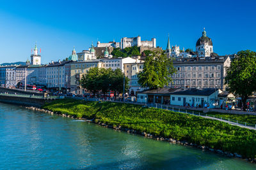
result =
[[[225,90],[226,68],[229,56],[177,59],[173,61],[177,73],[172,75],[170,87],[174,88],[218,88]]]

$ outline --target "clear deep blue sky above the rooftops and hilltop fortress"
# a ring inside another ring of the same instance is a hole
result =
[[[0,63],[26,61],[37,42],[42,63],[87,50],[92,41],[155,37],[193,48],[203,28],[219,55],[256,51],[256,1],[1,1]]]

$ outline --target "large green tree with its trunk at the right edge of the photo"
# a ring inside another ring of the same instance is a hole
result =
[[[245,106],[246,99],[256,91],[256,52],[245,50],[237,53],[230,67],[227,67],[225,84],[230,92],[241,96]]]

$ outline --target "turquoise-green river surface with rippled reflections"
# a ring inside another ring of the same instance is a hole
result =
[[[0,103],[0,169],[256,169],[256,165]]]

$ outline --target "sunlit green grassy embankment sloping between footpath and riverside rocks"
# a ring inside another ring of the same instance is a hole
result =
[[[175,113],[135,104],[86,102],[63,99],[43,106],[75,117],[92,119],[108,125],[147,132],[164,138],[186,140],[197,145],[256,157],[256,131],[216,120]]]

